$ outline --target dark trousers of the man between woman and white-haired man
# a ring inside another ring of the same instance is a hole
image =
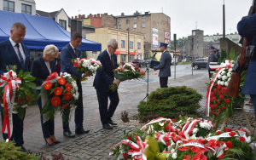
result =
[[[83,106],[83,91],[82,91],[82,83],[80,80],[77,80],[78,90],[79,90],[79,100],[77,103],[77,107],[75,109],[74,114],[74,121],[76,124],[75,129],[84,129],[83,122],[84,122],[84,106]],[[63,117],[62,117],[62,125],[64,132],[70,131],[69,129],[69,123],[64,123]]]

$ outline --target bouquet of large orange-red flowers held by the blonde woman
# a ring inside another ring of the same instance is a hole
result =
[[[64,72],[59,77],[56,72],[42,84],[41,89],[42,111],[44,122],[54,119],[55,112],[61,111],[64,123],[67,123],[70,112],[79,99],[78,86],[70,74]]]

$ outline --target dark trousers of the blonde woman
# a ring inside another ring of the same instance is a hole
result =
[[[41,99],[38,100],[38,108],[40,111],[40,119],[41,119],[41,126],[43,130],[44,139],[49,138],[49,135],[55,134],[55,120],[48,120],[44,123],[44,117],[41,114],[42,111],[42,102]]]

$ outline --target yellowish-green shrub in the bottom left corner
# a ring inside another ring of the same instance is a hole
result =
[[[0,160],[7,159],[26,159],[26,160],[38,160],[40,157],[35,157],[32,154],[20,151],[20,147],[16,147],[12,141],[5,142],[0,141]]]

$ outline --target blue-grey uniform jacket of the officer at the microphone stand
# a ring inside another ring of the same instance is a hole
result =
[[[160,58],[160,65],[154,66],[154,71],[160,69],[158,77],[171,77],[172,56],[166,50]]]

